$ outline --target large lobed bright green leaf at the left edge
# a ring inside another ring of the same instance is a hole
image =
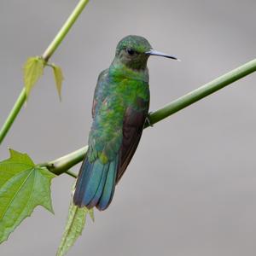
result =
[[[53,212],[50,183],[55,175],[35,166],[27,154],[9,149],[10,158],[0,162],[0,243],[37,206]]]

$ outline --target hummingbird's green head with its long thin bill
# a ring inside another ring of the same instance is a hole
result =
[[[140,36],[127,36],[119,41],[115,52],[115,59],[121,61],[126,67],[143,69],[147,67],[148,57],[158,55],[173,60],[178,59],[152,49],[146,38]]]

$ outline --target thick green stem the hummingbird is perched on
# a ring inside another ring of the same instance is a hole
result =
[[[159,110],[151,113],[149,115],[149,123],[150,125],[154,125],[162,119],[166,119],[173,113],[188,107],[189,105],[198,102],[202,98],[209,96],[213,92],[224,88],[225,86],[234,83],[236,80],[241,79],[247,76],[250,73],[256,71],[256,59],[253,61],[249,61],[241,67],[237,67],[236,69],[230,71],[229,73],[225,73],[223,76],[220,76],[218,79],[212,80],[196,90],[189,92],[188,94],[181,96],[177,100],[167,104],[164,108],[160,108]],[[145,125],[147,128],[149,124]],[[80,148],[73,153],[62,156],[57,160],[50,161],[46,164],[46,167],[50,172],[54,172],[55,174],[60,175],[63,172],[67,172],[69,168],[78,164],[81,160],[84,159],[84,155],[86,154],[88,146],[84,148]]]

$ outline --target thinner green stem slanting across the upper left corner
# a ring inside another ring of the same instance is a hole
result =
[[[89,0],[80,0],[76,8],[73,10],[73,13],[68,17],[67,21],[64,23],[64,25],[61,27],[60,32],[57,33],[54,40],[49,44],[49,47],[44,51],[44,54],[42,55],[44,61],[49,61],[49,58],[54,54],[55,50],[58,48],[58,46],[61,44],[63,39],[66,37],[67,32],[70,31],[71,27],[75,23],[75,21],[78,19],[79,15],[83,11],[86,4],[89,2]],[[20,96],[18,97],[17,101],[15,102],[15,106],[9,113],[8,118],[3,124],[3,127],[0,131],[0,145],[3,142],[4,137],[8,133],[11,125],[13,125],[15,118],[17,117],[18,113],[20,113],[20,109],[26,102],[26,90],[23,89],[20,92]]]

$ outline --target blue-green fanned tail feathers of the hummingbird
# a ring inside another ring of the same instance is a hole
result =
[[[73,202],[79,207],[97,207],[105,210],[113,199],[118,168],[118,155],[107,164],[97,159],[90,163],[86,158],[81,166]]]

